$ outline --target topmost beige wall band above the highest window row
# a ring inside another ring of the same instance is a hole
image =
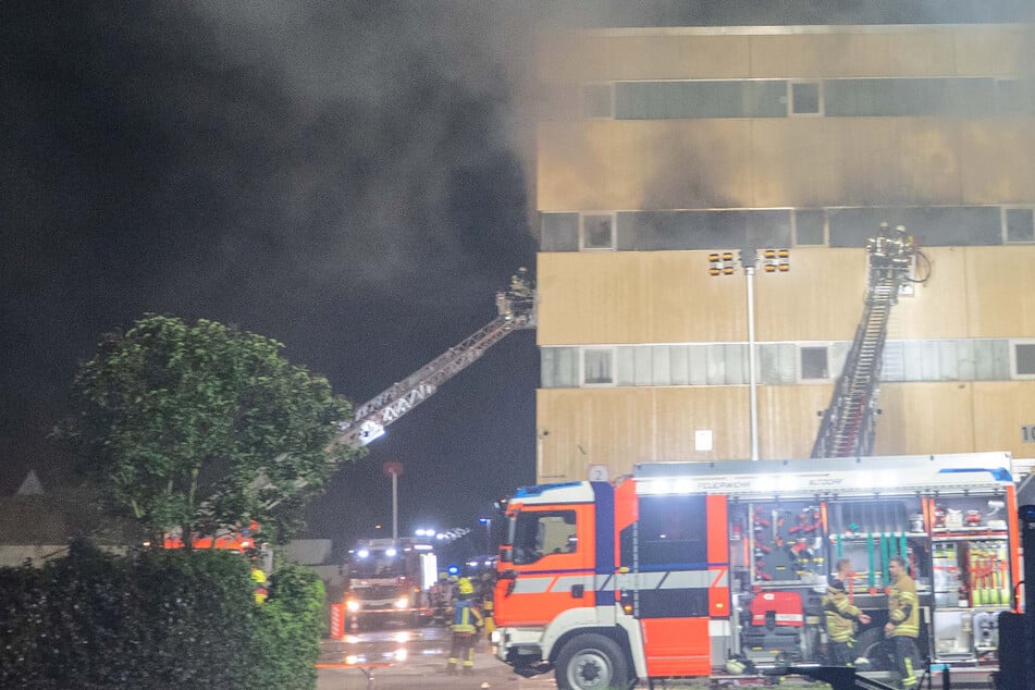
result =
[[[558,32],[545,82],[1009,76],[1035,61],[1030,25]]]

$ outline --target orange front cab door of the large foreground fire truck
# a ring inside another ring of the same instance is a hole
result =
[[[594,606],[593,504],[535,505],[512,515],[509,564],[495,590],[498,625],[545,625],[560,612]]]

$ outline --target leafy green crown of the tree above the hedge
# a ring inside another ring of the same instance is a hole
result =
[[[352,406],[281,356],[276,341],[214,321],[147,315],[109,333],[72,384],[56,435],[109,505],[155,538],[258,521],[283,541],[306,498],[358,453],[330,447]]]

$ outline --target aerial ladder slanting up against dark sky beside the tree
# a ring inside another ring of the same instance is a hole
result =
[[[486,349],[514,331],[535,328],[535,288],[527,269],[518,269],[509,287],[496,293],[496,311],[484,326],[357,407],[353,419],[338,422],[334,444],[358,448],[382,436],[385,427],[431,397]]]

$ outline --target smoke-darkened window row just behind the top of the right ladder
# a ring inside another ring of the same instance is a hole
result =
[[[547,212],[540,244],[543,251],[862,247],[883,222],[904,225],[925,247],[1035,242],[1030,206],[927,206]]]

